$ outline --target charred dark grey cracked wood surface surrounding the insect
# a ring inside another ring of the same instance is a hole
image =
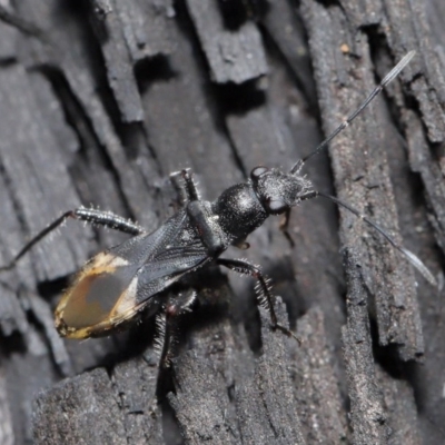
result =
[[[264,267],[301,345],[267,314],[260,328],[253,279],[205,270],[174,384],[158,378],[152,320],[58,337],[72,273],[125,238],[69,221],[0,276],[1,444],[445,442],[442,0],[1,4],[1,263],[79,205],[155,229],[175,209],[168,175],[185,167],[208,199],[257,165],[289,169],[414,49],[306,172],[439,281],[353,215],[304,202],[295,248],[270,218],[249,250],[225,254]]]

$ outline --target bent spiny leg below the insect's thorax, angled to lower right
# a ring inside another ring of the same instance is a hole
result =
[[[274,309],[274,297],[270,293],[269,280],[263,275],[263,271],[258,266],[255,266],[243,259],[218,258],[216,263],[220,266],[227,267],[230,270],[237,271],[238,274],[250,275],[251,277],[256,278],[258,280],[256,290],[258,293],[259,304],[269,310],[273,329],[279,329],[287,336],[297,338],[294,333],[278,324]],[[299,342],[298,338],[297,340]]]

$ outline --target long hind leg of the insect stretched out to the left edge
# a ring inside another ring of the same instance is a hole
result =
[[[17,261],[27,251],[29,251],[36,244],[41,241],[48,234],[50,234],[51,231],[56,230],[59,226],[61,226],[68,218],[79,219],[81,221],[86,221],[92,225],[97,224],[100,226],[108,227],[110,229],[123,231],[129,235],[140,235],[145,231],[137,224],[128,221],[121,216],[115,215],[110,211],[100,211],[96,209],[87,209],[85,207],[79,207],[78,209],[66,211],[59,218],[53,220],[48,227],[46,227],[33,238],[31,238],[8,265],[0,267],[0,271],[12,269],[16,266]]]

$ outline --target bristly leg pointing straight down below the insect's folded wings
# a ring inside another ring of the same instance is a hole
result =
[[[187,294],[178,294],[170,298],[164,307],[161,314],[156,318],[157,338],[155,339],[156,349],[159,352],[159,367],[169,368],[171,358],[175,355],[176,330],[178,319],[181,315],[192,310],[194,304],[198,299],[198,294],[191,290]]]

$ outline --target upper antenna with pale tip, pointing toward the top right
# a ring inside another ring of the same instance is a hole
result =
[[[416,51],[409,51],[380,81],[380,83],[374,88],[370,95],[363,101],[358,108],[353,111],[315,150],[309,152],[309,155],[305,156],[303,159],[298,160],[294,167],[290,169],[290,174],[296,174],[300,170],[300,168],[308,161],[313,156],[317,155],[322,151],[327,145],[339,134],[342,132],[368,105],[369,102],[379,95],[383,89],[394,80],[400,71],[411,62]]]

